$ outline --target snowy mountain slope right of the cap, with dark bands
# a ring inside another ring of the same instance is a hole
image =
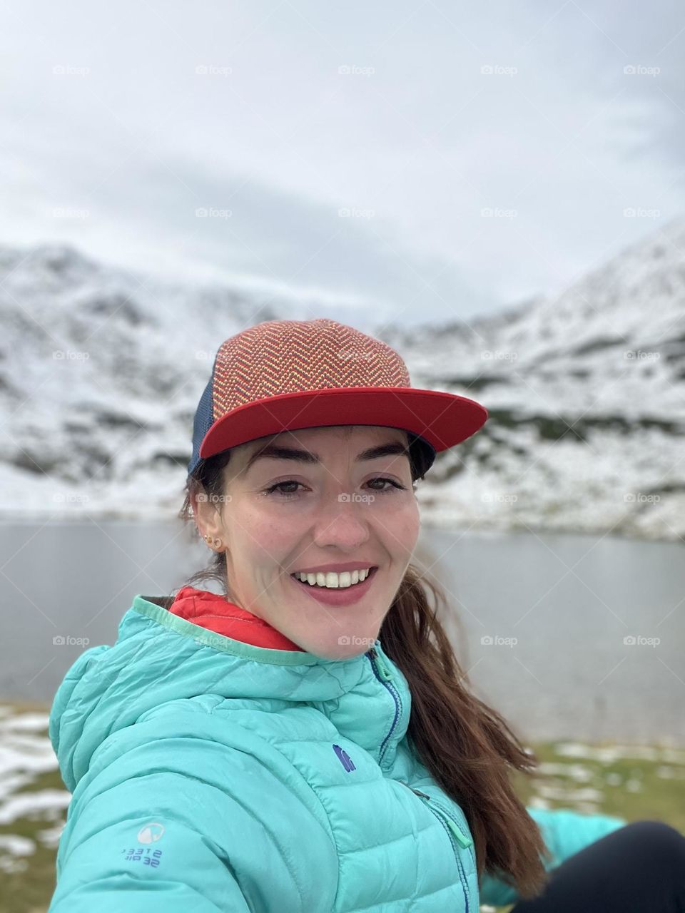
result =
[[[424,488],[434,523],[685,535],[685,221],[554,299],[377,332],[412,383],[490,413]]]

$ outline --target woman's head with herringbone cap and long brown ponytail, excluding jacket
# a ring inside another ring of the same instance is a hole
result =
[[[232,613],[313,656],[340,662],[382,644],[409,687],[409,756],[461,803],[474,834],[459,863],[462,900],[473,904],[479,876],[497,866],[532,896],[545,847],[506,765],[530,771],[535,759],[470,695],[437,619],[444,593],[410,563],[416,481],[487,411],[412,388],[394,350],[332,320],[271,321],[227,340],[203,398],[180,516],[216,553],[185,587],[214,580]],[[354,569],[370,573],[353,582]]]

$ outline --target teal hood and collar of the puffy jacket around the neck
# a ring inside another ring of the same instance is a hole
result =
[[[168,611],[173,601],[136,595],[122,616],[114,645],[92,646],[70,666],[50,709],[49,737],[62,779],[73,792],[93,755],[112,733],[132,726],[148,710],[170,701],[233,699],[265,710],[309,704],[345,737],[384,766],[406,735],[411,695],[406,678],[374,648],[349,659],[322,659],[292,649],[243,643]],[[374,661],[372,661],[374,656]],[[375,669],[374,669],[375,666]],[[393,728],[380,667],[392,670],[401,698]]]

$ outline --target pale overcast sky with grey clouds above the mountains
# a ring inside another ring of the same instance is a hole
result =
[[[3,244],[415,322],[558,293],[685,210],[675,0],[3,19]]]

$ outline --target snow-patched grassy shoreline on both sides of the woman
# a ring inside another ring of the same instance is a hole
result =
[[[46,913],[55,888],[70,797],[47,738],[48,711],[37,702],[0,702],[0,909],[7,913]],[[685,746],[564,740],[528,747],[540,766],[513,780],[526,804],[656,819],[685,834]]]

